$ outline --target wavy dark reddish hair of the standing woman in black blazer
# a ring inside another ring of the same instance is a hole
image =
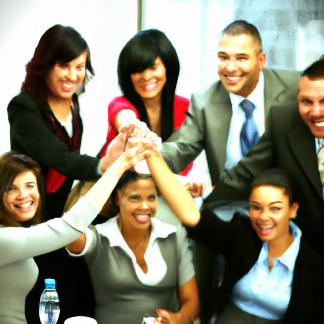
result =
[[[87,42],[74,28],[55,25],[47,29],[35,49],[34,56],[26,65],[26,78],[21,91],[32,93],[39,105],[43,107],[50,91],[45,77],[51,68],[57,62],[62,64],[71,62],[85,50],[87,51],[86,70],[91,75],[95,75]],[[86,79],[83,81],[82,92],[85,91]]]

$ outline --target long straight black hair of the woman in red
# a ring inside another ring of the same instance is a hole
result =
[[[180,63],[175,48],[162,31],[143,30],[126,43],[118,59],[118,82],[123,96],[136,107],[139,119],[151,128],[143,99],[133,87],[131,74],[152,67],[157,57],[165,65],[167,77],[161,104],[161,138],[165,141],[173,132],[174,95]]]

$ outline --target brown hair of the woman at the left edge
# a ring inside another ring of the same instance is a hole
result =
[[[32,158],[19,154],[17,152],[7,152],[0,156],[0,220],[3,225],[19,227],[21,224],[16,220],[16,215],[9,213],[3,197],[8,188],[13,184],[15,178],[26,171],[31,171],[37,180],[38,190],[40,192],[40,202],[36,215],[28,221],[29,225],[38,224],[41,221],[42,199],[45,193],[44,179],[41,174],[41,168]],[[24,222],[27,223],[27,222]]]

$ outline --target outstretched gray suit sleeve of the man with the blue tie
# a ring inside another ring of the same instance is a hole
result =
[[[204,148],[204,132],[203,108],[192,95],[186,120],[162,143],[161,154],[172,172],[183,171],[199,155]]]

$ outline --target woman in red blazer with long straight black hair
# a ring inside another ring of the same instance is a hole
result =
[[[166,141],[186,119],[189,100],[175,95],[180,72],[179,58],[167,36],[156,29],[137,33],[121,50],[118,82],[123,96],[108,106],[108,132],[98,154],[106,154],[118,130],[136,119]],[[180,175],[187,175],[191,164]]]

